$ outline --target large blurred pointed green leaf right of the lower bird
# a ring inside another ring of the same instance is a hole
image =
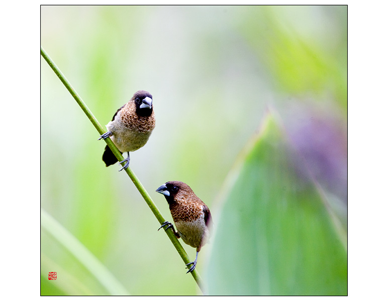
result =
[[[231,171],[207,270],[210,294],[346,295],[346,234],[296,173],[273,115]]]

